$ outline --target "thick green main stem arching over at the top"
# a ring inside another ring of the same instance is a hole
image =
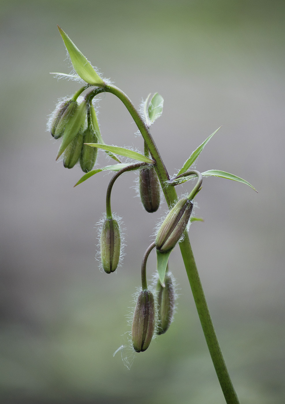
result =
[[[177,199],[177,194],[175,191],[175,187],[171,186],[169,181],[169,175],[165,168],[162,158],[158,152],[158,149],[150,135],[150,131],[141,116],[135,109],[133,103],[127,97],[125,93],[123,93],[118,87],[108,85],[103,90],[106,92],[112,93],[118,97],[122,103],[127,107],[129,113],[131,114],[133,120],[135,121],[137,127],[139,128],[144,141],[146,142],[148,149],[152,158],[156,161],[155,170],[160,180],[163,193],[165,195],[165,199],[167,201],[168,206],[171,206],[175,200]],[[97,91],[97,93],[102,92]],[[94,95],[96,95],[94,94]],[[194,260],[192,248],[190,245],[188,234],[182,243],[180,243],[180,250],[182,253],[184,265],[186,268],[186,272],[188,275],[188,279],[190,282],[190,286],[192,289],[194,301],[196,304],[196,308],[198,311],[198,316],[201,321],[201,325],[203,328],[203,332],[205,335],[205,339],[207,341],[207,345],[210,351],[210,355],[217,373],[217,377],[219,379],[222,391],[224,393],[224,397],[226,399],[227,404],[239,404],[239,400],[236,396],[236,392],[234,391],[234,387],[232,385],[232,381],[230,380],[230,376],[228,374],[228,370],[226,368],[226,364],[224,362],[224,358],[222,356],[222,351],[220,349],[220,345],[217,341],[217,336],[215,333],[215,329],[213,326],[213,322],[211,320],[211,316],[209,313],[209,308],[207,306],[207,301],[204,295],[203,287],[198,275],[198,270],[196,267],[196,263]]]

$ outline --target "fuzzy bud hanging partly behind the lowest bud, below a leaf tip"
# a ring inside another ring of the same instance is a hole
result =
[[[168,330],[173,317],[174,288],[169,274],[165,275],[165,286],[158,280],[156,290],[159,320],[157,334],[160,335]]]

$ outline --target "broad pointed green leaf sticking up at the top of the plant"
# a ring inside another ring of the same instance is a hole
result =
[[[99,74],[95,72],[89,61],[80,52],[77,46],[74,45],[72,40],[65,34],[65,32],[57,25],[66,49],[70,55],[71,63],[76,73],[87,83],[92,86],[105,87],[106,83],[103,82]]]

